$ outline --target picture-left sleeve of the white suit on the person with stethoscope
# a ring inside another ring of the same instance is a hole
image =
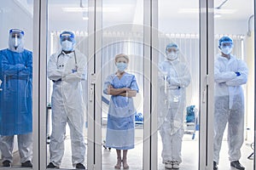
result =
[[[49,61],[47,64],[47,76],[50,80],[58,81],[65,76],[63,74],[63,71],[58,69],[57,67],[57,60],[55,55],[56,54],[53,54],[49,57]]]

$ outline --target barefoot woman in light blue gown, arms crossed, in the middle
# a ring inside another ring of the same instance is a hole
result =
[[[134,148],[135,108],[132,97],[138,92],[134,75],[125,72],[129,58],[126,54],[115,56],[117,70],[109,75],[104,83],[104,94],[111,95],[108,109],[106,146],[116,149],[116,169],[128,169],[127,151]],[[123,157],[121,157],[123,150]]]

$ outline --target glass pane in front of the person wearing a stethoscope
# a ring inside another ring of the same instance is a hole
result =
[[[87,3],[48,1],[48,167],[87,167]]]

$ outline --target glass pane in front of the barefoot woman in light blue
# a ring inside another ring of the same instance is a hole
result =
[[[143,169],[143,1],[102,1],[101,21],[101,169]]]

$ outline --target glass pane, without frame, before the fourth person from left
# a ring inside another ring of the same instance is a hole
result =
[[[158,3],[158,169],[197,169],[199,2]]]

